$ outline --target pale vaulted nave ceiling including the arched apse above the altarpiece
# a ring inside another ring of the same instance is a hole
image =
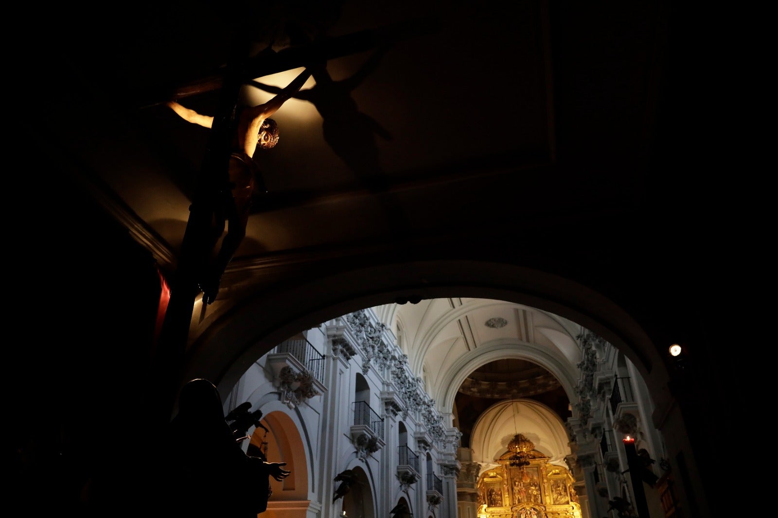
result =
[[[581,327],[562,317],[490,299],[425,299],[377,308],[443,413],[479,463],[524,433],[553,461],[567,447],[580,371]]]

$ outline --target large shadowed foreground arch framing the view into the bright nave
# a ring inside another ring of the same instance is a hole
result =
[[[183,379],[205,377],[216,380],[219,390],[229,391],[251,363],[296,332],[409,295],[499,299],[555,313],[600,335],[629,357],[654,401],[669,397],[668,372],[657,348],[621,307],[558,275],[483,261],[378,264],[301,280],[283,289],[265,287],[233,301],[198,331]]]

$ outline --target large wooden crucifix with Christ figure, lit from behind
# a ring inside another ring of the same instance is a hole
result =
[[[300,73],[272,100],[259,107],[238,107],[240,89],[265,75],[311,64],[321,66],[328,60],[379,46],[386,47],[435,27],[434,20],[419,19],[342,37],[321,37],[280,51],[267,47],[253,56],[249,53],[249,38],[238,36],[226,65],[218,73],[177,86],[173,89],[172,99],[160,100],[156,96],[157,99],[151,103],[143,103],[145,106],[166,103],[184,120],[210,128],[201,177],[190,206],[156,351],[155,377],[162,383],[161,388],[166,394],[163,411],[172,408],[183,374],[184,352],[195,299],[202,289],[204,304],[216,300],[224,268],[245,235],[251,193],[257,188],[264,189],[251,162],[254,150],[272,144],[275,128],[269,122],[270,115],[303,86],[311,72],[306,69]],[[219,91],[219,103],[216,114],[212,116],[188,110],[178,102],[216,90]],[[223,250],[219,250],[215,261],[212,261],[213,245],[223,233],[225,222],[229,230],[223,240]]]

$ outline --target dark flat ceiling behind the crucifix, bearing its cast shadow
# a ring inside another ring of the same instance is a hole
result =
[[[398,240],[456,239],[464,251],[505,236],[529,259],[566,249],[590,222],[608,232],[639,223],[636,209],[659,192],[644,175],[664,71],[661,12],[611,7],[133,2],[110,23],[54,7],[61,19],[38,37],[56,54],[19,68],[23,128],[38,135],[40,117],[65,124],[47,143],[58,169],[172,270],[199,182],[216,173],[203,170],[209,131],[162,103],[231,70],[234,55],[248,60],[247,80],[267,86],[324,55],[326,75],[277,113],[279,145],[258,153],[268,193],[237,259],[255,268],[334,243],[378,250]],[[251,38],[248,51],[233,54],[236,34]],[[219,92],[180,101],[219,114]],[[247,85],[231,101],[270,95]]]

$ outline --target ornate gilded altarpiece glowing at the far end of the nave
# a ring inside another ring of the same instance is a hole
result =
[[[513,467],[510,453],[478,478],[478,518],[581,518],[575,479],[566,467],[531,452],[530,465]]]

